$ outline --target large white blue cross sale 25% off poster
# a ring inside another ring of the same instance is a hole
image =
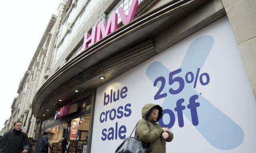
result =
[[[92,153],[114,153],[148,103],[174,133],[166,153],[256,150],[256,102],[226,16],[97,89]]]

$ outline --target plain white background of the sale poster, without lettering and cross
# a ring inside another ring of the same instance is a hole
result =
[[[154,87],[153,82],[146,76],[147,67],[154,61],[160,61],[170,71],[179,69],[192,41],[203,35],[210,35],[214,38],[212,50],[200,70],[200,73],[206,72],[210,75],[210,82],[205,86],[198,82],[195,90],[202,93],[204,98],[242,128],[244,140],[234,149],[218,149],[208,143],[184,116],[184,127],[178,126],[177,119],[172,127],[174,139],[166,143],[166,153],[253,153],[256,150],[256,102],[233,31],[225,16],[97,89],[92,153],[114,153],[122,142],[119,138],[102,141],[102,129],[110,127],[115,129],[115,124],[118,122],[118,128],[122,125],[126,126],[126,137],[128,137],[138,120],[141,119],[141,109],[144,104],[154,103],[161,106],[164,98],[154,100],[154,95],[159,89]],[[168,80],[166,80],[166,85],[169,86]],[[103,106],[105,92],[110,94],[111,89],[114,92],[121,90],[124,86],[128,88],[126,98],[120,98],[116,102]],[[112,121],[108,118],[107,122],[100,123],[102,112],[112,108],[117,109],[119,106],[124,107],[128,103],[131,104],[132,110],[129,117],[115,118]],[[174,110],[173,112],[176,116],[176,112]]]

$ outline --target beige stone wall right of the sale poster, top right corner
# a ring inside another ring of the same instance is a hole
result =
[[[256,98],[256,0],[222,0]]]

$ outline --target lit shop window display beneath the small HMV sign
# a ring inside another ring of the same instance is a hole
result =
[[[67,139],[67,153],[84,153],[87,150],[90,130],[90,108],[91,104],[88,99],[78,102],[77,111],[80,114],[72,114],[63,117],[58,126],[48,130],[49,143],[52,146],[52,153],[61,152],[62,141]],[[72,119],[71,119],[72,118]],[[56,122],[59,122],[56,120]]]

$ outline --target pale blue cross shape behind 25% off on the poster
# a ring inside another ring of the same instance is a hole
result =
[[[197,69],[201,69],[204,65],[213,44],[214,38],[210,35],[204,35],[195,39],[190,44],[182,61],[180,67],[182,71],[175,77],[184,77],[189,71],[196,74]],[[160,76],[168,80],[170,72],[171,71],[162,63],[156,61],[148,66],[146,75],[152,82],[154,82],[156,78]],[[161,84],[158,83],[156,86],[160,88]],[[178,86],[178,83],[172,84],[171,86],[167,84],[164,86],[162,93],[168,93],[170,87],[177,89]],[[244,140],[244,132],[242,128],[201,94],[196,92],[193,88],[193,84],[185,83],[184,89],[179,94],[167,94],[162,103],[162,108],[174,110],[176,101],[180,98],[185,99],[183,104],[186,106],[188,105],[188,99],[193,95],[198,95],[196,101],[200,102],[200,106],[197,107],[198,125],[194,127],[212,146],[218,149],[228,150],[238,147]],[[192,123],[190,110],[184,109],[183,114]],[[175,122],[176,118],[173,119],[170,118],[170,116],[164,115],[162,122],[169,123],[171,120],[174,120]]]

